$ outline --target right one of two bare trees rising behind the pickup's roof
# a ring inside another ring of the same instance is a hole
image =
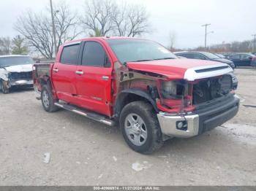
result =
[[[139,4],[116,6],[113,15],[118,36],[136,36],[148,32],[148,12]]]

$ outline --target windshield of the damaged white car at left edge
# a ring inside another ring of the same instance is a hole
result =
[[[0,58],[0,67],[17,66],[23,64],[32,64],[34,60],[29,56],[10,56]]]

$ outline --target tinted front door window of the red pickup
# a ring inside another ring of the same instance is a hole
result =
[[[82,65],[94,67],[110,67],[108,56],[98,42],[86,42],[83,48]]]

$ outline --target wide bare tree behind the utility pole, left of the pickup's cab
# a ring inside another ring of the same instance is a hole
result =
[[[78,20],[66,4],[61,3],[55,12],[57,48],[60,44],[74,39],[80,32],[77,31]],[[45,58],[53,58],[54,44],[50,9],[45,9],[46,14],[28,11],[20,15],[15,23],[15,30],[22,34],[29,46],[40,52]]]

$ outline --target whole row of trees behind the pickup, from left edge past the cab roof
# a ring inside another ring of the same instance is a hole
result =
[[[120,1],[119,1],[120,3]],[[118,4],[113,0],[88,0],[85,2],[83,14],[79,15],[66,4],[59,1],[53,5],[53,17],[56,26],[56,47],[64,42],[86,36],[140,36],[149,31],[148,12],[140,4]],[[39,52],[44,58],[53,58],[54,39],[50,9],[42,12],[28,10],[20,15],[15,23],[15,31],[19,35],[21,47],[19,51],[11,45],[10,38],[0,38],[0,55],[12,51],[26,54],[27,50]],[[20,45],[19,45],[20,46]],[[13,53],[12,52],[12,53]]]

